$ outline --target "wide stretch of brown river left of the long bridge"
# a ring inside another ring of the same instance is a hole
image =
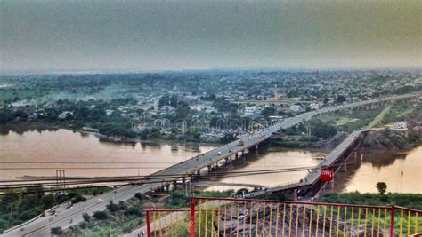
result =
[[[177,149],[174,150],[170,144],[100,142],[93,135],[71,130],[43,129],[39,132],[31,128],[8,128],[3,131],[0,161],[20,163],[3,163],[1,179],[53,177],[55,170],[66,170],[67,177],[147,175],[214,148],[175,144]],[[22,170],[5,170],[11,168]],[[38,168],[43,170],[33,170]]]

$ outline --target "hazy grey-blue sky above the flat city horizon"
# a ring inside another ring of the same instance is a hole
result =
[[[0,71],[420,67],[422,1],[0,1]]]

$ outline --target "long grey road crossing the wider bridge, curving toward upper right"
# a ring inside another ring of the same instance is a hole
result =
[[[400,96],[392,96],[384,99],[366,100],[336,107],[325,107],[319,110],[306,112],[301,115],[296,115],[294,117],[289,117],[283,120],[282,122],[278,122],[272,126],[257,131],[254,135],[245,135],[243,138],[241,138],[244,140],[243,146],[238,146],[239,140],[236,140],[227,145],[217,147],[214,150],[211,150],[205,154],[195,156],[190,160],[175,164],[164,170],[160,170],[152,174],[151,176],[169,176],[182,174],[185,176],[189,176],[190,174],[194,174],[197,170],[207,167],[207,165],[209,165],[210,163],[218,162],[231,154],[235,154],[237,152],[248,149],[248,147],[255,146],[256,144],[263,142],[267,138],[270,138],[273,132],[276,132],[280,129],[287,129],[300,122],[309,120],[314,115],[320,115],[323,113],[333,112],[341,109],[348,109],[352,107],[361,107],[372,103],[393,99],[407,99],[417,96],[420,97],[421,94],[421,92],[418,92]],[[94,211],[104,210],[106,209],[106,205],[109,201],[114,201],[115,203],[117,203],[118,201],[125,201],[127,199],[132,198],[135,193],[145,194],[157,190],[166,183],[171,183],[175,181],[175,179],[176,178],[166,177],[161,179],[162,183],[149,183],[136,186],[122,186],[109,193],[101,194],[99,196],[94,197],[93,199],[84,201],[82,203],[77,203],[72,208],[59,213],[57,217],[53,217],[53,220],[51,221],[51,217],[39,217],[31,223],[28,223],[28,225],[25,225],[23,230],[21,230],[20,228],[12,229],[2,234],[1,236],[47,236],[50,234],[50,229],[52,227],[61,226],[62,229],[66,229],[70,225],[75,225],[78,222],[81,222],[83,220],[82,213],[84,212],[92,214]],[[103,201],[98,203],[97,199],[101,199]]]

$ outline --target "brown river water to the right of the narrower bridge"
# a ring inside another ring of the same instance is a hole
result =
[[[422,193],[422,146],[396,154],[359,151],[348,162],[353,164],[340,169],[322,193],[376,193],[377,182],[385,182],[387,192]]]

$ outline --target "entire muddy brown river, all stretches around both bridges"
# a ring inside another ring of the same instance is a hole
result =
[[[0,128],[0,180],[25,176],[66,177],[143,176],[182,162],[215,146],[202,144],[118,144],[100,142],[90,134],[71,130]],[[276,186],[303,178],[307,171],[228,177],[231,171],[309,167],[320,162],[321,151],[288,150],[271,146],[247,154],[217,172],[227,174],[207,182],[208,190],[238,189],[231,184]],[[387,192],[422,193],[422,146],[401,153],[354,154],[324,192],[377,192],[379,181]]]

